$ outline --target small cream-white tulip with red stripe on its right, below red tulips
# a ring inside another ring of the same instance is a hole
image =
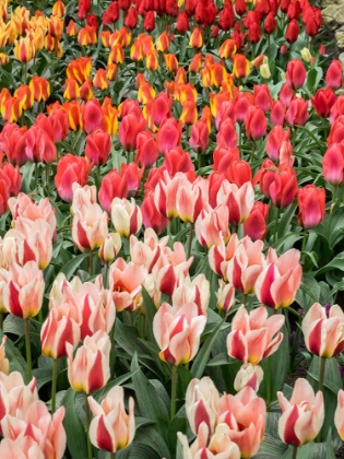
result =
[[[129,237],[139,233],[142,226],[142,213],[134,199],[131,198],[130,202],[127,199],[115,198],[111,203],[111,221],[120,236]]]

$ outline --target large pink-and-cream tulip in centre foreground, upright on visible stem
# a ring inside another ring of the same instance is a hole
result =
[[[190,362],[199,350],[205,322],[206,317],[198,315],[194,303],[187,303],[178,310],[164,303],[153,320],[161,360],[173,365]]]

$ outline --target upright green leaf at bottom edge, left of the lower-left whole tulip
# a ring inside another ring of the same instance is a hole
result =
[[[72,433],[72,435],[67,435],[67,445],[72,458],[84,459],[87,457],[86,434],[76,413],[75,396],[76,392],[70,387],[62,399],[61,404],[66,408],[63,426],[66,432]]]

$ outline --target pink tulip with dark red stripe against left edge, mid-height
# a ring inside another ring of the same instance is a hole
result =
[[[3,304],[13,316],[27,319],[35,317],[43,302],[43,272],[35,261],[23,267],[13,262],[10,266],[10,281],[3,287]]]

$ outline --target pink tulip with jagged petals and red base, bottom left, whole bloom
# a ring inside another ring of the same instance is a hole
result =
[[[129,398],[129,414],[124,408],[124,391],[114,387],[102,403],[88,397],[88,404],[94,419],[90,424],[91,443],[109,452],[126,448],[135,435],[134,401]]]

